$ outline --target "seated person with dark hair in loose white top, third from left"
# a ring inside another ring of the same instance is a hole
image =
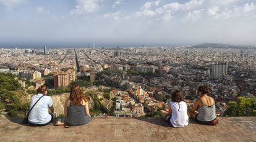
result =
[[[173,127],[185,127],[189,125],[189,116],[187,116],[187,104],[184,102],[183,92],[176,90],[168,102],[169,111],[160,111],[161,117]]]

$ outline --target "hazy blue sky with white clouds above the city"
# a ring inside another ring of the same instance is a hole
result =
[[[256,45],[256,0],[0,0],[0,47]]]

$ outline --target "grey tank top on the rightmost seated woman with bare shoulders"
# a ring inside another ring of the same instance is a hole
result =
[[[200,101],[203,103],[202,100]],[[198,111],[197,120],[211,121],[216,119],[215,104],[213,104],[212,106],[207,106],[203,104],[203,106],[200,106],[197,111]]]

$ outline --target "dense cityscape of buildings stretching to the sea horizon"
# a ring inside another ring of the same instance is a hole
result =
[[[56,92],[61,95],[70,84],[82,84],[85,95],[98,94],[106,109],[100,112],[111,116],[150,116],[168,108],[167,100],[177,89],[190,107],[197,87],[209,84],[216,114],[223,116],[229,101],[256,96],[255,59],[256,49],[243,48],[2,48],[0,72],[14,74],[28,93],[46,84],[53,91],[67,89]]]

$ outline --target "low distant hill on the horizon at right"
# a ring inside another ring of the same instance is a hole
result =
[[[216,44],[216,43],[203,43],[187,47],[188,49],[256,49],[255,46],[250,45],[230,45],[230,44]]]

